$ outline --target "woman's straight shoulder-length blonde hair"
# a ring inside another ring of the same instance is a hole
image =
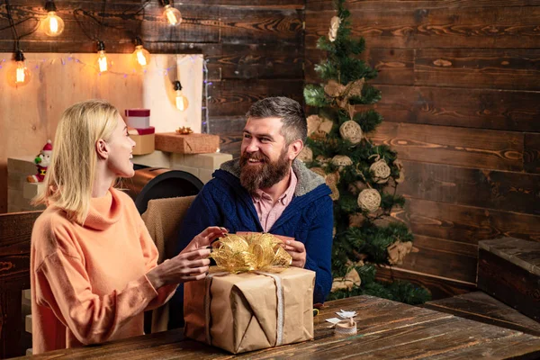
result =
[[[103,100],[88,100],[66,109],[58,122],[43,190],[34,204],[53,204],[67,218],[84,223],[90,208],[97,164],[95,143],[116,128],[118,110]]]

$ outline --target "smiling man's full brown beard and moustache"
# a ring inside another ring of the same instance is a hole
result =
[[[262,161],[258,165],[248,165],[249,158]],[[271,162],[266,155],[255,152],[245,152],[240,157],[240,184],[248,193],[255,194],[258,189],[266,189],[284,179],[289,174],[291,163],[287,157],[286,148],[275,162]]]

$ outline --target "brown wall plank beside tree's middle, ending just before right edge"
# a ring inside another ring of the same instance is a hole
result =
[[[401,159],[499,170],[523,170],[524,136],[518,132],[383,122],[369,134]]]

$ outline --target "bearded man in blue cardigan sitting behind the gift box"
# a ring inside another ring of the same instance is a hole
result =
[[[197,195],[184,218],[177,252],[210,225],[229,233],[294,238],[284,248],[293,266],[316,273],[313,302],[324,302],[332,284],[333,207],[324,179],[296,159],[306,136],[299,103],[286,97],[254,103],[247,112],[239,159],[222,164]],[[171,312],[179,311],[182,300],[182,292],[176,292]],[[171,325],[181,326],[171,315]]]

